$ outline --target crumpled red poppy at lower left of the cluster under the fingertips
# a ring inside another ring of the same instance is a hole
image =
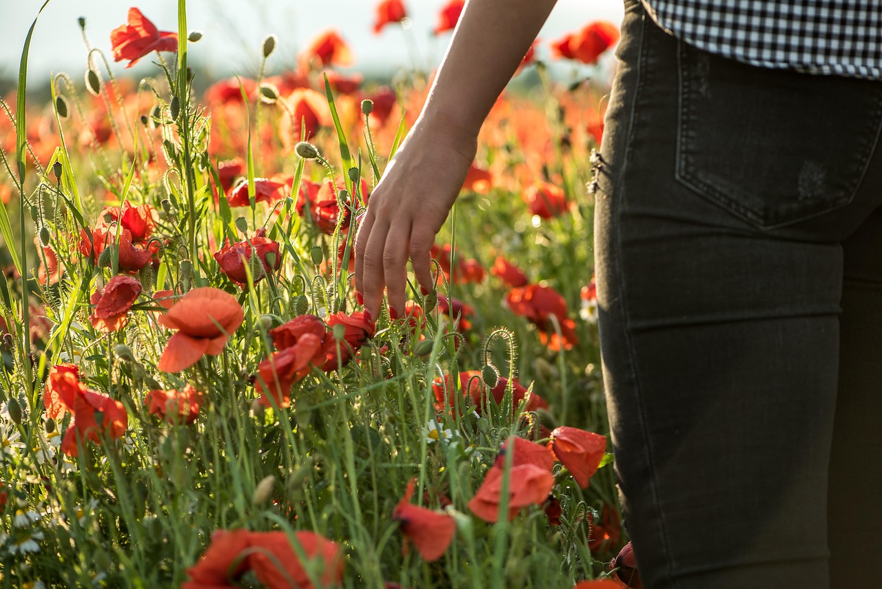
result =
[[[272,406],[269,396],[275,404],[288,407],[291,404],[291,386],[310,374],[317,355],[322,351],[322,339],[313,334],[304,334],[297,338],[297,343],[275,351],[269,358],[258,365],[257,389],[261,394],[260,403]]]

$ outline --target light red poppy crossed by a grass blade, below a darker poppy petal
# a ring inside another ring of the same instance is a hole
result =
[[[502,500],[503,469],[490,468],[468,509],[486,522],[497,522]],[[541,505],[554,487],[554,475],[535,464],[512,467],[508,477],[508,520],[528,505]]]

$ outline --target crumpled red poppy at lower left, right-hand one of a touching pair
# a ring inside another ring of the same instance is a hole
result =
[[[101,425],[95,419],[98,412],[101,413]],[[64,432],[61,450],[68,456],[77,456],[78,443],[86,440],[100,443],[100,434],[121,438],[128,425],[129,416],[122,403],[82,385],[73,397],[73,423]]]

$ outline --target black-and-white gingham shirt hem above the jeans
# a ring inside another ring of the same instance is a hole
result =
[[[662,28],[769,68],[882,79],[882,0],[643,0]]]

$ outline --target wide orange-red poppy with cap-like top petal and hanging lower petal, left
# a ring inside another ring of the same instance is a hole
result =
[[[210,286],[187,292],[159,317],[161,325],[177,332],[168,340],[156,367],[176,373],[193,366],[205,354],[217,356],[243,319],[242,306],[228,292]]]

